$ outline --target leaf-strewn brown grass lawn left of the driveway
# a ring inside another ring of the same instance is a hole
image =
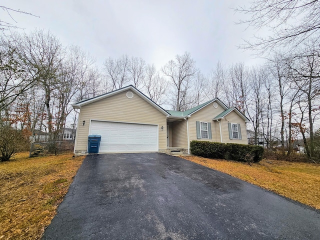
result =
[[[39,239],[83,158],[19,153],[0,162],[0,239]]]

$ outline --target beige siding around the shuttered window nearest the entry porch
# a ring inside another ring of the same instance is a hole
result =
[[[224,108],[221,107],[219,104],[215,108],[213,107],[213,103],[210,103],[203,107],[202,109],[198,110],[197,112],[193,113],[189,118],[189,138],[190,141],[192,140],[203,140],[203,141],[218,141],[220,142],[220,131],[219,131],[219,122],[212,121],[212,119],[224,111]],[[196,138],[196,121],[204,121],[211,123],[211,133],[212,139]]]

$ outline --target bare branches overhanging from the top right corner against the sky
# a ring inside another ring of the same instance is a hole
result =
[[[264,53],[281,46],[292,50],[308,38],[320,36],[320,1],[318,0],[253,0],[251,5],[235,11],[249,15],[240,20],[256,30],[266,28],[268,36],[255,36],[240,47]]]

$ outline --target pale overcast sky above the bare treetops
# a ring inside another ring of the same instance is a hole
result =
[[[162,66],[176,54],[190,52],[197,67],[208,73],[223,64],[262,62],[237,48],[253,32],[234,24],[239,13],[230,8],[246,0],[1,0],[0,5],[40,17],[10,12],[25,32],[44,28],[64,44],[76,44],[96,57],[122,54]],[[8,15],[0,9],[0,19]]]

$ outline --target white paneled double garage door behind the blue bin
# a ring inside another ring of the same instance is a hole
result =
[[[90,134],[101,135],[99,152],[158,151],[158,126],[91,121]]]

